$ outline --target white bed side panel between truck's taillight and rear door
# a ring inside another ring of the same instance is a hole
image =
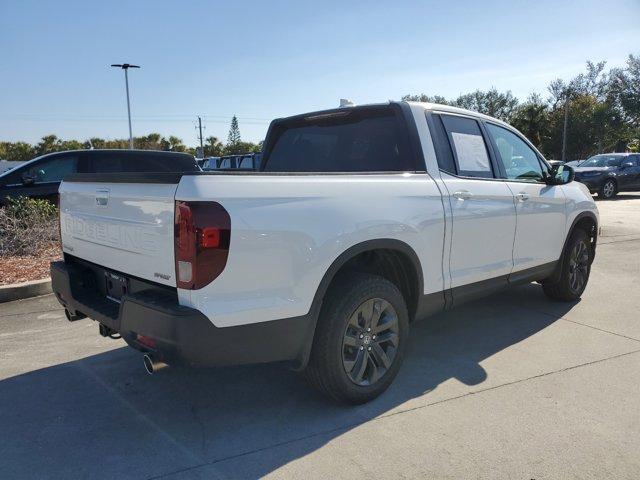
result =
[[[179,290],[218,327],[305,315],[330,265],[374,239],[408,244],[424,293],[443,289],[444,214],[427,174],[189,175],[177,200],[212,200],[231,217],[229,258],[208,286]]]

